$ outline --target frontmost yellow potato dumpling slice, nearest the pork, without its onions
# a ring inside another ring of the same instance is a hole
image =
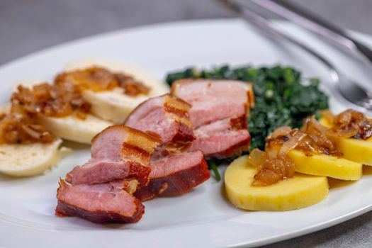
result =
[[[328,196],[325,176],[295,174],[293,178],[270,186],[252,186],[256,169],[247,164],[247,156],[235,159],[225,172],[227,198],[245,210],[283,211],[305,208]]]

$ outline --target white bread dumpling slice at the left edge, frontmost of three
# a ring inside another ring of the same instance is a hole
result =
[[[9,113],[9,106],[0,107],[0,113]],[[1,144],[0,172],[10,176],[42,174],[70,151],[61,144],[60,138],[49,143]]]

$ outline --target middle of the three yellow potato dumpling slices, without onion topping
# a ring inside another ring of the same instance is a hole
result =
[[[298,150],[288,152],[288,157],[295,163],[295,171],[303,174],[329,176],[342,180],[361,179],[363,164],[348,159],[325,154],[308,157]]]

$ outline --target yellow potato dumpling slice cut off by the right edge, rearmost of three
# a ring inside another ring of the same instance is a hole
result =
[[[327,128],[332,127],[332,123],[325,118],[320,118],[319,122]],[[372,137],[368,140],[340,137],[336,146],[345,159],[372,166]]]

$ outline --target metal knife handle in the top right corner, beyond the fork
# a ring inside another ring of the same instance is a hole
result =
[[[283,18],[293,21],[303,28],[322,35],[329,40],[347,47],[352,52],[362,55],[363,62],[368,62],[368,67],[372,67],[372,50],[359,41],[351,38],[342,28],[335,26],[324,18],[301,9],[285,0],[251,0],[255,4],[276,13]]]

